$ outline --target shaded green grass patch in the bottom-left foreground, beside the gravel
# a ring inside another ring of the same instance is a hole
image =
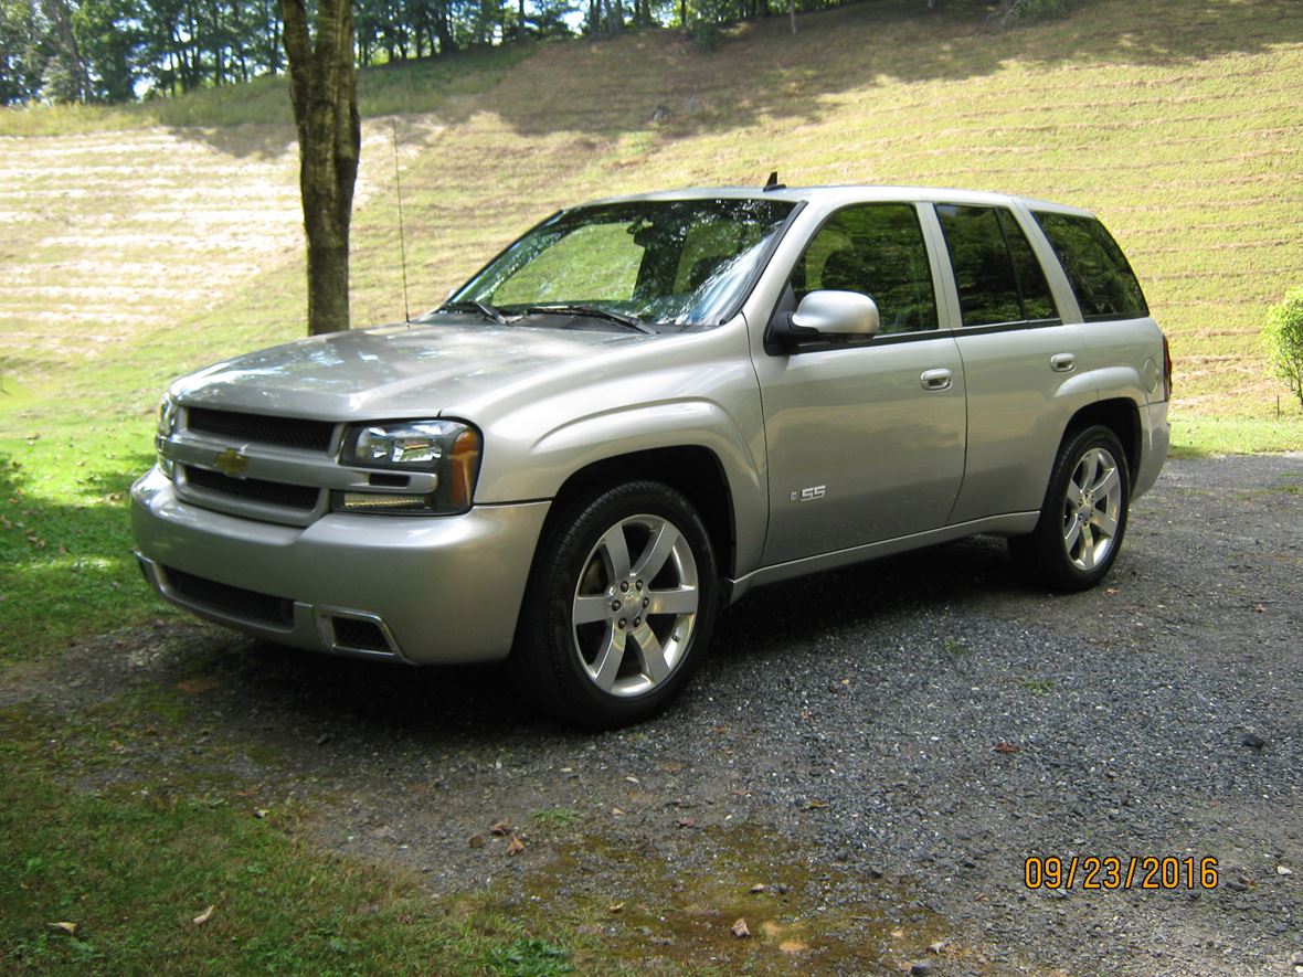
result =
[[[310,812],[265,788],[119,759],[175,749],[175,718],[139,697],[79,722],[0,710],[5,973],[550,974],[590,957],[564,920],[487,894],[431,900],[396,869],[319,851]]]

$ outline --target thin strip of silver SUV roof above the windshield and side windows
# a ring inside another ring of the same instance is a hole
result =
[[[770,190],[760,186],[691,186],[678,190],[658,190],[623,197],[607,197],[589,201],[588,205],[635,203],[638,201],[693,201],[693,199],[775,199],[792,203],[821,203],[840,206],[856,202],[908,202],[908,203],[959,203],[969,206],[1009,206],[1018,201],[1032,210],[1049,210],[1063,214],[1091,216],[1091,211],[1033,197],[988,193],[985,190],[959,190],[941,186],[783,186]]]

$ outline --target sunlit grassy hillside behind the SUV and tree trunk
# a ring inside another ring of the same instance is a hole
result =
[[[413,309],[590,197],[775,168],[1002,189],[1092,207],[1122,241],[1173,337],[1179,444],[1303,447],[1259,339],[1303,270],[1303,5],[1096,0],[998,35],[980,4],[920,7],[795,38],[775,18],[714,53],[654,31],[366,73],[354,322],[403,310],[395,130]],[[122,498],[163,384],[304,332],[280,85],[0,113],[0,624],[35,621],[31,654],[155,612]]]

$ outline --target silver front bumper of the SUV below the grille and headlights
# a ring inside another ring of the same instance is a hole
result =
[[[414,664],[490,662],[511,651],[547,508],[284,526],[181,502],[151,469],[132,486],[132,531],[163,598],[246,634]]]

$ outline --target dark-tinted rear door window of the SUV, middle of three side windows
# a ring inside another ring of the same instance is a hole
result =
[[[1005,210],[937,205],[964,326],[1057,319],[1045,272]]]

